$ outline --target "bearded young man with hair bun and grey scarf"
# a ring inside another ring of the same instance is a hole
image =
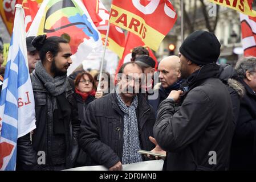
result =
[[[73,167],[78,151],[80,120],[67,78],[71,48],[57,36],[39,35],[32,45],[40,60],[31,74],[36,129],[18,139],[17,169],[61,170]],[[38,163],[38,152],[42,155]],[[42,159],[44,158],[45,159]]]

